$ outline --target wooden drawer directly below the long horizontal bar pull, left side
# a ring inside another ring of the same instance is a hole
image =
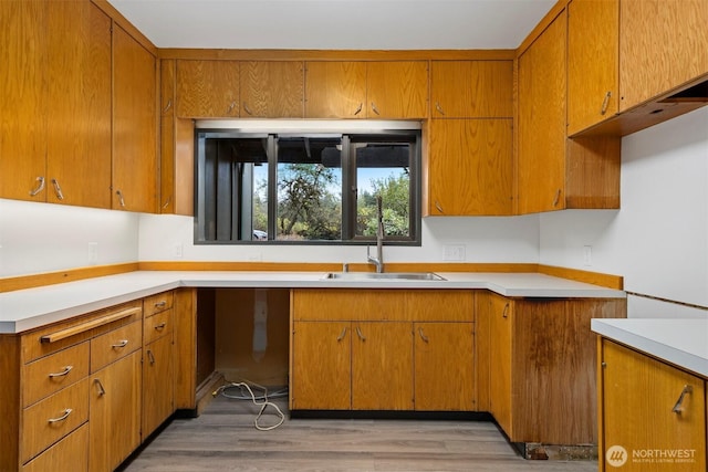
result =
[[[29,407],[88,375],[88,342],[27,364],[22,370],[22,406]]]

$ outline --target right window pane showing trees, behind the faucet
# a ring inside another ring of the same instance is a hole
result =
[[[356,237],[376,237],[376,196],[381,195],[384,234],[410,237],[409,143],[355,143]]]

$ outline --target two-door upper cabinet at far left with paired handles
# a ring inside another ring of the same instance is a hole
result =
[[[10,1],[0,30],[0,197],[110,208],[111,19]]]

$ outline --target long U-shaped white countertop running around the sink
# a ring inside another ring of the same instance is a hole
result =
[[[514,297],[624,298],[620,290],[539,273],[439,272],[445,281],[326,280],[324,272],[136,271],[0,293],[0,334],[21,333],[177,287],[486,289]]]

